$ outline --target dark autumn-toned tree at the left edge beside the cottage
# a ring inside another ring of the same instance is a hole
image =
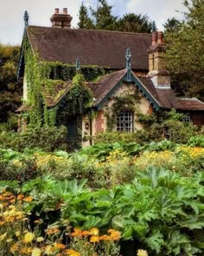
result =
[[[0,43],[0,122],[21,104],[22,83],[16,82],[19,47]]]

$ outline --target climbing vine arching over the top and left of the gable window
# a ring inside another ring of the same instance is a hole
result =
[[[112,131],[117,123],[117,115],[122,111],[134,112],[137,110],[137,105],[141,97],[136,91],[134,94],[125,92],[123,95],[117,95],[112,97],[114,103],[112,107],[106,108],[105,117],[107,121],[107,131]]]

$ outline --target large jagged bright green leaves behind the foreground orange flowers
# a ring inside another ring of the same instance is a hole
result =
[[[114,228],[122,240],[134,239],[151,255],[198,255],[203,244],[194,232],[204,226],[202,183],[202,173],[185,178],[150,168],[137,173],[132,183],[112,189],[90,191],[84,181],[77,184],[43,176],[17,191],[29,197],[29,204],[21,205],[31,213],[31,227],[37,220],[41,230],[60,235],[69,220],[68,226],[81,230],[95,226],[105,233]]]

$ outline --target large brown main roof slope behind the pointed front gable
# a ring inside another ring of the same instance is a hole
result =
[[[83,65],[124,69],[125,51],[130,48],[131,69],[149,69],[150,34],[29,26],[27,35],[32,49],[48,62],[74,64],[80,58]]]

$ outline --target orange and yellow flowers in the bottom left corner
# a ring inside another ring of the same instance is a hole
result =
[[[28,208],[32,201],[31,196],[24,194],[5,190],[0,194],[1,255],[118,255],[120,233],[113,229],[99,234],[98,228],[73,228],[67,220],[61,225],[55,222],[48,226],[43,222],[46,219],[36,219],[31,226]]]

